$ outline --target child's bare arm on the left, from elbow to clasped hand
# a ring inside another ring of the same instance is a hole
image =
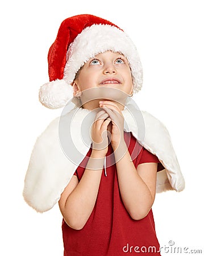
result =
[[[108,150],[107,126],[110,119],[106,119],[107,117],[104,110],[96,115],[91,128],[93,150],[84,174],[79,183],[77,177],[73,176],[60,197],[61,213],[66,224],[73,229],[78,230],[84,227],[97,199],[104,158]],[[105,137],[103,138],[102,135]]]

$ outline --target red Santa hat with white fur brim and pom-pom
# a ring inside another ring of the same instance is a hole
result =
[[[39,101],[50,109],[65,106],[73,97],[72,82],[78,70],[98,53],[120,52],[131,68],[133,93],[139,92],[143,72],[132,40],[115,24],[94,15],[65,19],[48,52],[49,82],[40,87]]]

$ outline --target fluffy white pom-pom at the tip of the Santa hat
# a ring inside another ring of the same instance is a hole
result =
[[[47,82],[39,90],[39,101],[49,109],[63,108],[72,97],[72,85],[63,79]]]

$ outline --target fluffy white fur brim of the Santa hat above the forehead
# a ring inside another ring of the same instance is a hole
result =
[[[72,84],[77,71],[91,57],[105,51],[121,52],[126,57],[131,68],[133,92],[139,92],[143,82],[143,71],[138,51],[132,40],[122,30],[107,24],[86,27],[70,44],[64,80]]]

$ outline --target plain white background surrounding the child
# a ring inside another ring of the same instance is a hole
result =
[[[174,241],[174,247],[204,253],[203,1],[4,2],[0,8],[0,254],[63,255],[58,205],[36,213],[24,202],[22,190],[36,137],[61,114],[38,102],[38,89],[48,81],[48,49],[65,18],[85,13],[117,24],[135,42],[144,69],[143,89],[135,100],[168,128],[186,180],[185,191],[156,196],[153,213],[160,245]]]

